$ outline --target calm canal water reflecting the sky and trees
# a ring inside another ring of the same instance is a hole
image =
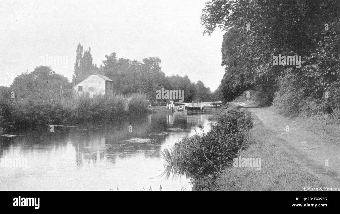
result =
[[[208,129],[208,115],[155,113],[115,124],[55,127],[0,137],[0,190],[191,190],[189,179],[159,177],[160,151],[197,125]],[[132,126],[132,132],[129,132]]]

